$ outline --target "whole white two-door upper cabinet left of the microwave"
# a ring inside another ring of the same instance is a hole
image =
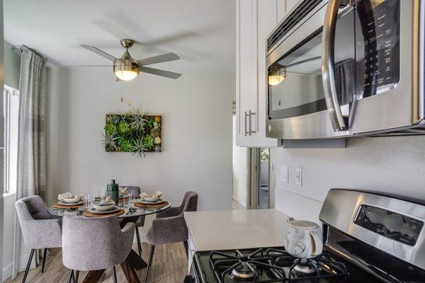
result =
[[[277,24],[277,0],[237,0],[237,145],[271,147],[266,137],[266,37]]]

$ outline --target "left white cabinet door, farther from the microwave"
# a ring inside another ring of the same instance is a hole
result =
[[[253,146],[256,132],[256,0],[237,0],[237,146]],[[251,129],[250,129],[251,126]]]

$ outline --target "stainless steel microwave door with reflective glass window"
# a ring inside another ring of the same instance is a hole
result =
[[[334,131],[327,110],[322,78],[322,38],[327,11],[324,2],[268,53],[267,137],[317,139],[348,135],[347,131]],[[342,7],[334,36],[334,65],[338,103],[346,119],[356,96],[354,30],[353,7]]]

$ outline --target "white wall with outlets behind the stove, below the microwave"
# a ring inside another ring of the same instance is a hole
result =
[[[271,149],[275,206],[299,219],[319,221],[327,191],[334,187],[378,190],[425,198],[425,137],[349,139],[346,149]],[[280,166],[289,166],[289,184]],[[295,167],[302,166],[302,187]]]

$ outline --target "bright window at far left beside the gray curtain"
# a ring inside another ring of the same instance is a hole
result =
[[[19,92],[4,86],[4,192],[16,192]]]

